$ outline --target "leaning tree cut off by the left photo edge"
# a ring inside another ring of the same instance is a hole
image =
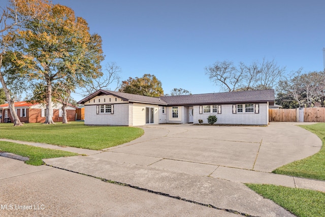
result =
[[[9,47],[14,43],[15,38],[12,37],[19,24],[39,17],[44,10],[46,0],[9,0],[6,5],[0,5],[0,82],[9,104],[9,110],[13,118],[14,126],[21,126],[16,111],[15,99],[6,82],[6,71],[3,70],[4,59],[7,57]]]

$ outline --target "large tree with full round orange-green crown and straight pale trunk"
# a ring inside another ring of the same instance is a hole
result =
[[[27,68],[26,79],[46,86],[47,124],[54,123],[52,88],[56,82],[69,80],[76,87],[102,75],[100,35],[90,34],[88,23],[66,6],[49,4],[41,18],[23,23],[15,37],[16,57],[22,57],[15,59],[16,65]]]

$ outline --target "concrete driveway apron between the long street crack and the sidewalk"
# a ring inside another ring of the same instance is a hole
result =
[[[44,160],[47,165],[93,177],[101,177],[127,186],[153,191],[180,200],[206,204],[248,216],[294,216],[245,185],[165,169],[121,163],[91,156]]]

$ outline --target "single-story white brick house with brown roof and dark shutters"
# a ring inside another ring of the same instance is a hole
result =
[[[268,125],[274,90],[148,97],[98,90],[78,103],[85,105],[86,125],[139,126],[162,123]]]

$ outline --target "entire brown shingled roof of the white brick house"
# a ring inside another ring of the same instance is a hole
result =
[[[136,94],[121,93],[108,90],[98,90],[86,98],[80,100],[78,104],[84,104],[86,101],[99,95],[113,95],[129,102],[154,103],[161,105],[194,105],[194,104],[213,104],[213,103],[257,103],[269,102],[274,104],[274,90],[252,90],[226,93],[206,93],[180,96],[161,96],[149,97]]]

